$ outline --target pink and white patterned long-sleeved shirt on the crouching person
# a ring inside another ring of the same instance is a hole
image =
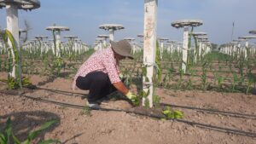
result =
[[[76,87],[76,79],[79,76],[85,77],[90,72],[108,73],[111,84],[120,82],[119,63],[114,59],[111,48],[96,51],[90,55],[89,59],[80,66],[79,71],[74,77],[73,89]]]

